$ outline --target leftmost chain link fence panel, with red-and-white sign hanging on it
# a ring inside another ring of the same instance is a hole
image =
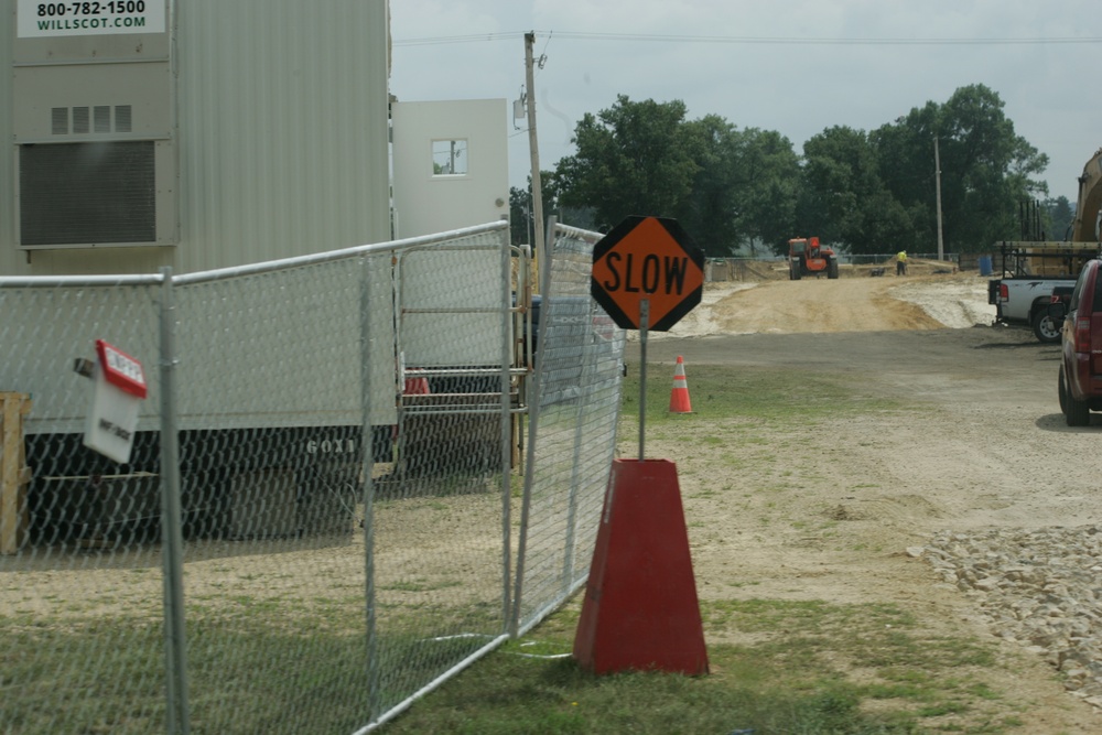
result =
[[[73,371],[107,325],[119,344],[156,355],[160,287],[152,278],[34,287],[0,288],[0,733],[164,729],[159,456],[147,431],[155,370],[127,466],[83,446],[91,385]],[[23,439],[13,403],[39,430],[23,447],[33,478],[14,486]]]

